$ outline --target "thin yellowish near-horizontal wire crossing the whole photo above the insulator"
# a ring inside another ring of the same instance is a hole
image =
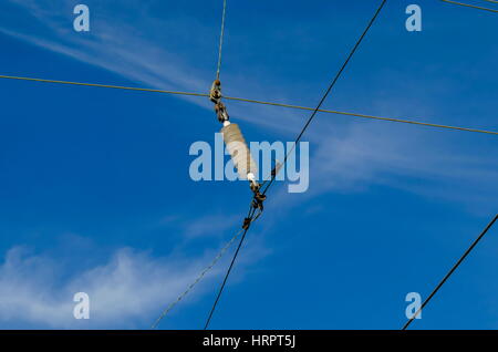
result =
[[[203,96],[203,97],[209,96],[209,94],[204,94],[204,93],[164,91],[164,90],[154,90],[154,89],[145,89],[145,87],[133,87],[133,86],[121,86],[121,85],[96,84],[96,83],[82,83],[82,82],[70,82],[70,81],[58,81],[58,80],[44,80],[44,79],[33,79],[33,77],[22,77],[22,76],[10,76],[10,75],[0,75],[0,79],[32,81],[32,82],[41,82],[41,83],[54,83],[54,84],[69,84],[69,85],[80,85],[80,86],[106,87],[106,89],[152,92],[152,93],[163,93],[163,94],[174,94],[174,95],[188,95],[188,96]],[[274,103],[274,102],[263,102],[263,101],[243,99],[243,97],[224,96],[224,99],[231,100],[231,101],[252,103],[252,104],[260,104],[260,105],[270,105],[270,106],[280,106],[280,107],[288,107],[288,108],[295,108],[295,110],[314,111],[313,107],[283,104],[283,103]],[[413,121],[413,120],[391,118],[391,117],[382,117],[382,116],[374,116],[374,115],[366,115],[366,114],[359,114],[359,113],[349,113],[349,112],[332,111],[332,110],[318,110],[318,112],[344,115],[344,116],[350,116],[350,117],[371,118],[371,120],[405,123],[405,124],[421,125],[421,126],[428,126],[428,127],[436,127],[436,128],[457,130],[457,131],[465,131],[465,132],[475,132],[475,133],[498,135],[498,132],[495,132],[495,131],[432,124],[432,123],[418,122],[418,121]]]

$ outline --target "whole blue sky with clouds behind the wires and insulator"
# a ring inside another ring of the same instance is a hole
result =
[[[498,130],[498,17],[388,1],[325,108]],[[221,1],[0,4],[0,74],[206,92]],[[313,106],[377,1],[229,1],[227,95]],[[243,183],[188,175],[219,124],[207,99],[0,81],[0,328],[147,329],[239,228]],[[228,102],[250,141],[292,141],[307,112]],[[310,188],[269,195],[214,329],[397,329],[497,210],[496,136],[320,114]],[[498,231],[413,328],[498,328]],[[160,329],[199,329],[227,256]],[[73,294],[91,319],[72,317]]]

